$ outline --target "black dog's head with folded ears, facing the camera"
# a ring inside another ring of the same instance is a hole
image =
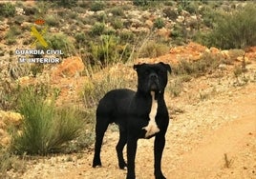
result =
[[[167,85],[167,72],[171,73],[171,67],[162,62],[158,64],[134,65],[138,73],[138,90],[142,92],[163,92]]]

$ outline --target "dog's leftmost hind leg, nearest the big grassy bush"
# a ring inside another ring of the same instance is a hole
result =
[[[109,123],[105,118],[97,116],[96,119],[96,145],[95,145],[95,156],[93,161],[93,168],[101,166],[100,160],[100,149],[105,131],[108,129]]]

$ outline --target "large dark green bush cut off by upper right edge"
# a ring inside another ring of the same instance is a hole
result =
[[[205,45],[220,49],[244,49],[256,45],[256,6],[223,15],[207,35]]]

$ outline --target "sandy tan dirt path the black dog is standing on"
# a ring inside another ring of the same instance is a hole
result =
[[[256,84],[251,83],[197,104],[184,106],[182,102],[168,100],[168,104],[182,106],[184,112],[174,116],[166,134],[162,159],[166,177],[256,178],[255,91]],[[126,170],[117,168],[117,137],[117,130],[106,132],[101,152],[102,168],[92,168],[93,151],[89,150],[80,155],[61,155],[33,162],[22,178],[125,178]],[[139,179],[154,178],[153,143],[154,139],[139,140],[136,158]]]

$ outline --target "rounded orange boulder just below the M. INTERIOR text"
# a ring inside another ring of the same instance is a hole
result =
[[[79,72],[84,70],[84,64],[82,59],[78,56],[72,56],[63,60],[61,64],[57,66],[55,70],[53,70],[54,76],[64,76],[64,77],[73,77]]]

